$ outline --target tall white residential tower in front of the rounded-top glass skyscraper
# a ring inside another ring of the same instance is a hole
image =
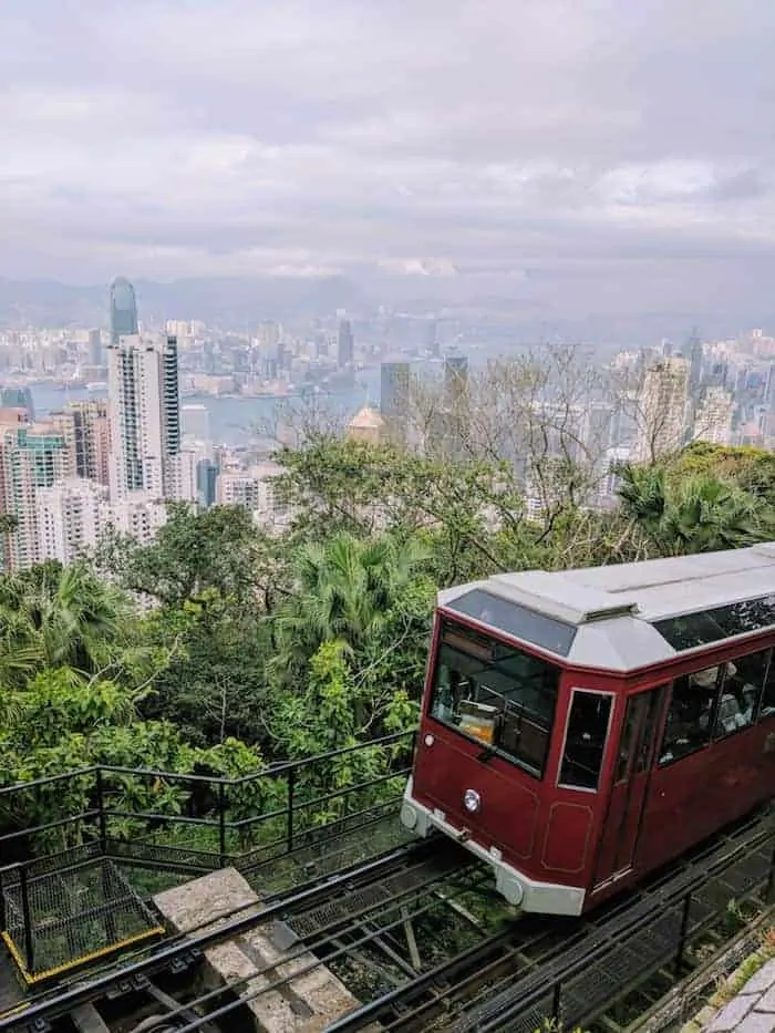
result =
[[[167,494],[169,458],[180,452],[180,399],[175,338],[122,337],[107,350],[111,498]]]

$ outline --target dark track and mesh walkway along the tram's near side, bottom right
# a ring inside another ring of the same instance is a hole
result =
[[[586,919],[523,918],[513,933],[370,1002],[329,1033],[374,1022],[402,1033],[533,1033],[548,1017],[565,1029],[592,1023],[654,972],[680,972],[685,946],[730,900],[772,884],[774,840],[772,817],[758,817]]]

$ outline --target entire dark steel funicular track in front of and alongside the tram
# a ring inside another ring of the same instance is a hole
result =
[[[392,991],[328,1029],[343,1033],[379,1024],[406,1033],[531,1033],[552,1015],[566,1026],[590,1023],[654,971],[680,963],[688,940],[731,899],[772,881],[774,835],[772,818],[758,816],[589,918],[523,916],[428,971],[417,974],[405,964],[405,978]],[[437,903],[441,884],[448,899],[456,889],[486,886],[488,876],[446,839],[411,844],[290,896],[267,899],[258,916],[236,913],[215,932],[195,931],[146,950],[128,964],[59,988],[14,1015],[0,1016],[0,1030],[45,1030],[46,1020],[115,995],[120,988],[145,989],[158,998],[148,982],[155,973],[200,957],[207,947],[238,939],[259,922],[282,924],[288,950],[283,960],[316,955],[304,971],[348,957],[362,959],[365,948],[381,946],[407,922],[422,919]],[[246,993],[245,984],[234,983],[186,1004],[167,999],[161,1012],[177,1031],[230,1029],[246,1000],[287,989],[298,970],[278,977],[267,965],[265,974],[259,990]]]

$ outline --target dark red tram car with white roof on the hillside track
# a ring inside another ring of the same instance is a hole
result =
[[[440,592],[412,775],[525,911],[581,915],[775,791],[775,543]]]

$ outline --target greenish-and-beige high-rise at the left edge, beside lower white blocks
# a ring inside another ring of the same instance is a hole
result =
[[[7,570],[24,570],[42,559],[38,493],[66,472],[66,445],[49,424],[0,427],[0,510],[16,519],[4,536]]]

